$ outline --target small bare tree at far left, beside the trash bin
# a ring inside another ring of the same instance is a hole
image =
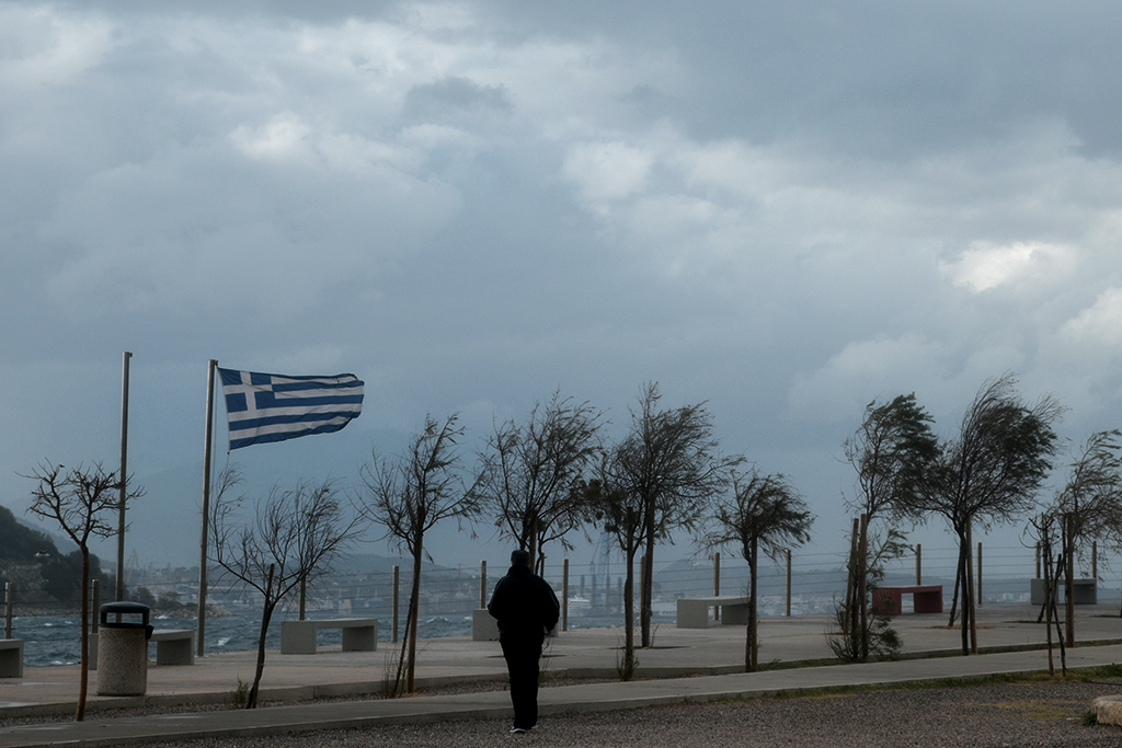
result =
[[[74,717],[81,722],[85,719],[90,682],[90,538],[117,534],[113,520],[120,516],[121,479],[116,472],[105,472],[100,462],[90,469],[79,465],[70,471],[65,465],[44,463],[25,478],[37,483],[27,510],[58,523],[82,553],[82,667]],[[137,488],[125,492],[123,501],[128,505],[140,496],[144,489]]]

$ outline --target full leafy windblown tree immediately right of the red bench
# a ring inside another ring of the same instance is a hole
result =
[[[971,530],[988,530],[1031,510],[1058,446],[1052,425],[1063,407],[1050,396],[1029,406],[1015,386],[1011,375],[983,385],[963,416],[957,438],[941,445],[914,499],[917,512],[941,515],[958,538],[963,654],[977,654]]]

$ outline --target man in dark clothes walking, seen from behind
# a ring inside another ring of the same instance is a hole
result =
[[[498,620],[498,641],[511,674],[511,732],[532,730],[537,727],[537,661],[545,634],[558,625],[561,606],[553,588],[530,571],[527,552],[511,554],[511,571],[495,585],[487,611]]]

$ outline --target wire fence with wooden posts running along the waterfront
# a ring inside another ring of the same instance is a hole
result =
[[[673,548],[660,551],[670,556]],[[1029,600],[1030,580],[1039,575],[1039,561],[1033,548],[977,544],[972,552],[980,604]],[[912,546],[910,553],[885,564],[884,583],[942,584],[944,595],[949,600],[957,560],[956,547]],[[829,615],[835,609],[836,600],[845,593],[844,553],[797,552],[782,555],[774,562],[762,558],[760,565],[757,590],[762,616]],[[486,602],[506,569],[505,558],[480,560],[457,569],[424,569],[421,575],[421,615],[470,617],[472,610]],[[1105,556],[1095,550],[1080,560],[1076,574],[1098,580],[1098,599],[1102,602],[1120,598],[1120,569],[1122,564],[1116,555]],[[641,564],[636,560],[636,584],[640,574]],[[622,615],[625,569],[618,557],[603,557],[598,563],[549,560],[544,575],[564,601],[567,622],[589,618],[597,621],[596,625],[611,625],[611,618],[618,620]],[[305,615],[376,617],[396,634],[397,627],[393,625],[404,620],[411,584],[410,566],[369,572],[350,569],[332,573],[306,590]],[[654,612],[672,615],[674,600],[682,597],[745,594],[747,584],[747,564],[735,555],[687,556],[672,561],[656,557]],[[197,570],[148,570],[134,574],[128,588],[131,599],[146,602],[157,611],[177,617],[194,616]],[[52,592],[43,589],[19,590],[10,582],[6,583],[6,637],[12,636],[13,617],[75,612],[73,603],[63,606],[54,602]],[[259,595],[243,584],[214,583],[209,588],[208,602],[219,615],[260,610]],[[298,606],[295,599],[286,601],[280,608],[282,615],[295,617]]]

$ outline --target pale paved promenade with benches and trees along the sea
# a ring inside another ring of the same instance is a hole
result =
[[[946,628],[945,615],[904,615],[894,627],[904,653],[916,658],[864,665],[820,665],[742,673],[744,627],[679,629],[662,624],[654,647],[638,650],[637,680],[623,683],[616,663],[623,629],[573,629],[550,640],[544,668],[552,675],[605,677],[604,683],[559,685],[540,693],[543,714],[631,709],[683,701],[769,695],[829,686],[888,684],[947,677],[981,677],[995,673],[1047,669],[1039,648],[1046,632],[1030,606],[980,609],[978,644],[988,654],[954,656],[960,632]],[[1122,663],[1122,618],[1118,603],[1079,606],[1077,646],[1067,653],[1068,667]],[[831,656],[825,618],[766,618],[761,621],[762,663],[789,664]],[[637,634],[637,632],[636,632]],[[264,701],[312,700],[318,696],[377,693],[396,645],[379,643],[373,653],[342,653],[324,647],[315,655],[269,652],[261,681]],[[1026,649],[1026,647],[1029,647]],[[1036,648],[1032,648],[1036,647]],[[921,656],[922,655],[922,656]],[[951,656],[930,656],[951,655]],[[1056,666],[1059,655],[1056,653]],[[49,746],[120,746],[155,740],[221,735],[269,735],[300,730],[361,727],[376,722],[423,722],[466,718],[502,718],[511,712],[505,691],[395,700],[315,702],[257,710],[220,710],[199,714],[112,717],[112,709],[144,704],[227,702],[239,681],[249,683],[254,653],[208,655],[194,665],[151,665],[146,696],[94,695],[96,672],[90,674],[84,722],[54,721],[0,728],[0,748]],[[500,680],[506,671],[498,643],[467,637],[420,643],[417,685]],[[0,678],[0,719],[73,713],[79,691],[77,666],[26,668],[22,678]]]

